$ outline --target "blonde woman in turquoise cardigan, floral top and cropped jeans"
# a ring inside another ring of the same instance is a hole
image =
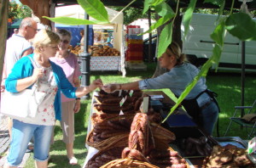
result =
[[[49,157],[49,143],[55,120],[61,120],[61,92],[68,98],[80,98],[102,87],[100,79],[89,87],[73,87],[61,67],[49,60],[58,51],[60,37],[52,31],[42,30],[34,37],[34,53],[21,58],[5,81],[6,90],[20,92],[31,88],[38,81],[38,92],[47,92],[38,105],[35,118],[14,120],[9,155],[5,167],[20,165],[27,143],[34,137],[34,159],[36,167],[46,168]],[[32,64],[31,57],[35,64]]]

